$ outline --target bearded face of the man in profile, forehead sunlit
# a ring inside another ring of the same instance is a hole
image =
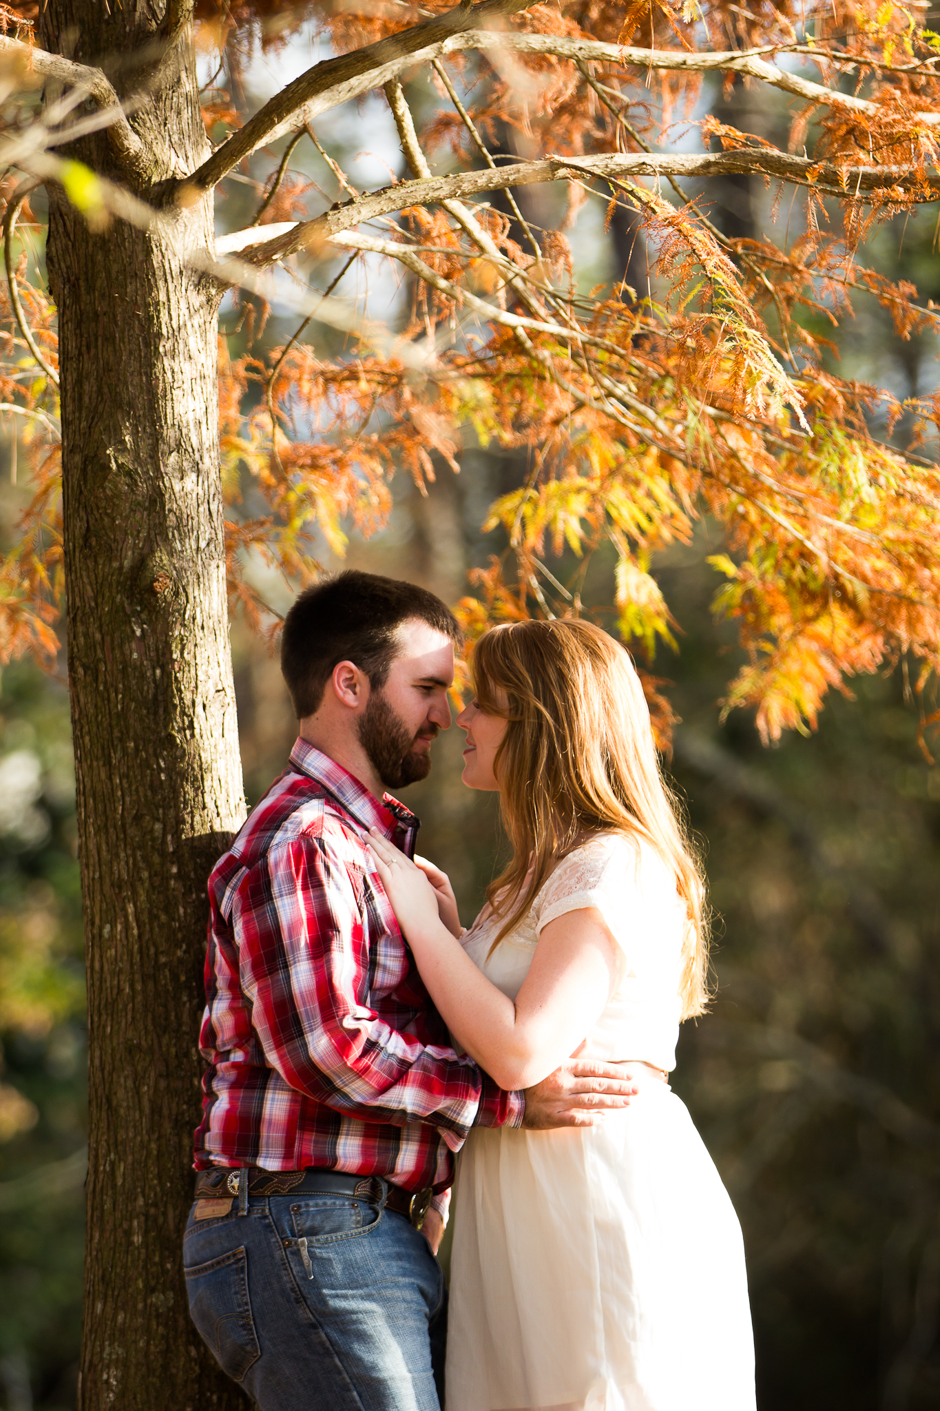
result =
[[[454,683],[454,643],[410,618],[396,634],[397,653],[385,686],[369,691],[359,742],[386,789],[404,789],[431,768],[431,741],[451,724],[447,691]]]

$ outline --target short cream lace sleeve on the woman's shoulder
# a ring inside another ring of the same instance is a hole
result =
[[[630,893],[637,888],[637,849],[627,838],[592,838],[558,864],[537,899],[541,931],[567,912],[596,907],[626,947]]]

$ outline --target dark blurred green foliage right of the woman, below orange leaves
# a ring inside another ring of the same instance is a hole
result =
[[[667,571],[688,631],[672,772],[720,917],[717,1000],[685,1026],[675,1086],[743,1221],[758,1404],[929,1411],[940,770],[901,672],[769,752],[736,717],[719,728],[707,586]]]

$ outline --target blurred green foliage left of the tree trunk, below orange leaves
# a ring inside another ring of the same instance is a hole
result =
[[[18,663],[0,682],[0,1391],[31,1384],[44,1411],[75,1404],[83,1015],[68,694]]]

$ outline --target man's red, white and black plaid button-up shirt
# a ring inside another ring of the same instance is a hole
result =
[[[517,1126],[521,1094],[450,1047],[366,854],[376,827],[410,855],[414,814],[303,739],[290,765],[209,882],[196,1168],[444,1192],[469,1127]]]

